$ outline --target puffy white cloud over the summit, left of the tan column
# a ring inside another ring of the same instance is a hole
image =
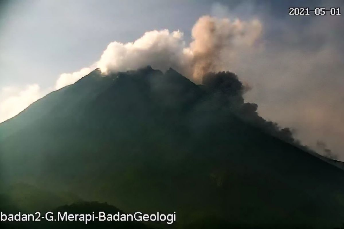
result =
[[[135,42],[111,42],[97,65],[103,73],[136,70],[147,65],[162,71],[170,67],[182,70],[187,64],[184,47],[182,32],[154,30],[144,33]]]

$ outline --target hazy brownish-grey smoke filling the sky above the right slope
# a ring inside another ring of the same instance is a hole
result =
[[[318,4],[344,7],[342,1]],[[227,70],[237,73],[251,87],[244,95],[245,101],[258,104],[256,112],[268,121],[290,127],[302,144],[326,155],[316,145],[321,139],[331,155],[343,160],[343,17],[272,17],[269,15],[277,12],[255,2],[239,8],[240,15],[255,15],[264,28],[256,45],[241,49],[234,58],[226,59],[223,54]],[[217,4],[213,15],[237,14]]]

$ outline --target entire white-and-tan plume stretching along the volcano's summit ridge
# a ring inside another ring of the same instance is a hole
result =
[[[134,42],[111,42],[93,66],[64,73],[55,88],[60,89],[100,68],[109,72],[136,70],[147,65],[166,71],[170,67],[197,83],[209,71],[228,67],[228,59],[255,44],[262,31],[259,20],[218,19],[203,16],[192,28],[192,42],[186,46],[183,33],[169,30],[150,31]]]

